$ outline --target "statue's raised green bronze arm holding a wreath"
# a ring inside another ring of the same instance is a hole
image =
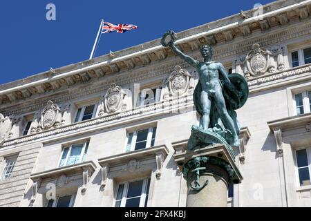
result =
[[[166,42],[165,40],[167,38],[171,38],[169,40],[169,42]],[[193,59],[192,57],[185,55],[183,52],[181,52],[175,45],[175,40],[176,40],[176,33],[173,32],[172,30],[167,31],[161,39],[161,44],[164,47],[169,47],[171,48],[171,50],[173,50],[173,52],[176,53],[176,55],[178,55],[178,57],[180,57],[181,59],[184,59],[185,61],[187,61],[191,66],[194,66],[196,68],[196,66],[198,65],[198,61],[196,61],[195,59]]]

